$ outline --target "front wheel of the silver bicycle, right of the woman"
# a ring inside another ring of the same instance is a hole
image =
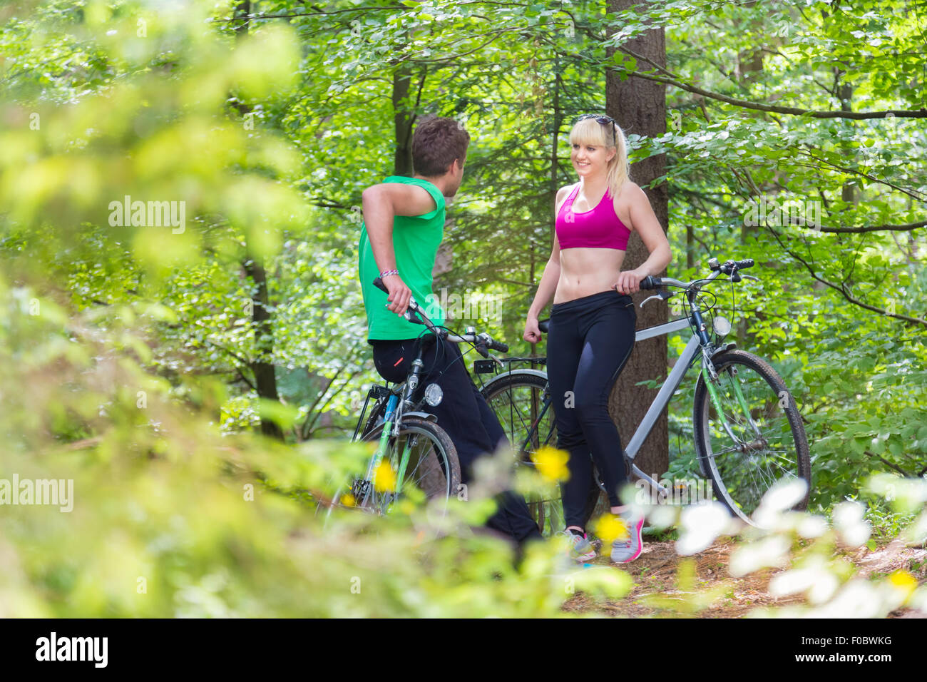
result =
[[[768,489],[782,480],[802,479],[806,493],[794,509],[805,509],[811,463],[792,394],[756,355],[729,351],[712,362],[717,405],[703,372],[695,386],[692,423],[699,464],[715,496],[736,517],[756,525],[751,517]]]

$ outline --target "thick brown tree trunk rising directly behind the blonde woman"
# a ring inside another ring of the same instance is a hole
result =
[[[631,6],[646,6],[647,2],[635,0],[609,0],[608,11],[616,13]],[[662,27],[654,27],[641,36],[624,44],[629,50],[650,58],[660,66],[667,64],[667,46]],[[646,65],[639,61],[639,68]],[[619,80],[614,71],[608,71],[605,79],[605,107],[626,133],[658,137],[667,132],[667,92],[666,85],[642,78],[631,77]],[[647,199],[654,209],[657,220],[667,231],[669,195],[667,184],[662,183],[653,189],[646,185],[655,178],[665,174],[666,156],[661,154],[631,166],[631,179],[644,188]],[[624,270],[632,270],[649,257],[650,252],[636,232],[631,234],[628,252],[623,264]],[[658,275],[665,275],[659,273]],[[633,296],[635,305],[651,295],[641,291]],[[653,327],[667,322],[668,308],[663,302],[649,302],[643,308],[635,308],[638,315],[637,328]],[[666,378],[667,376],[667,337],[641,341],[635,345],[628,364],[621,372],[609,400],[609,412],[615,419],[618,433],[621,434],[622,446],[627,446],[631,435],[641,423],[647,408],[656,396],[656,391],[635,384],[643,380]],[[644,473],[656,474],[659,478],[669,467],[669,437],[667,413],[657,419],[654,429],[641,447],[635,464]],[[623,500],[627,501],[627,500]]]

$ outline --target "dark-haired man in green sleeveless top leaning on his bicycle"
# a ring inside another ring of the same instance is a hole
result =
[[[476,457],[493,452],[505,433],[482,393],[470,377],[456,343],[438,341],[434,334],[400,315],[410,297],[425,305],[432,291],[432,270],[444,238],[445,197],[453,197],[464,179],[470,135],[457,122],[431,118],[420,122],[413,135],[413,177],[390,175],[362,194],[359,276],[367,311],[367,342],[374,346],[374,364],[387,381],[404,381],[418,344],[424,343],[419,392],[434,382],[443,400],[427,410],[448,432],[461,463],[461,479],[468,483]],[[389,293],[374,286],[380,277]],[[444,324],[444,311],[429,303],[427,315]],[[540,539],[520,495],[503,493],[487,526],[519,543]]]

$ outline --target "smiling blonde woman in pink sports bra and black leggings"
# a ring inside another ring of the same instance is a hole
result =
[[[557,446],[569,453],[562,485],[565,536],[574,560],[595,550],[583,523],[592,480],[590,454],[603,478],[612,513],[628,533],[612,544],[611,559],[641,555],[643,518],[619,497],[626,483],[624,451],[608,414],[608,397],[634,348],[637,314],[630,294],[671,260],[669,242],[641,187],[629,179],[628,142],[609,116],[585,114],[570,131],[570,160],[579,177],[556,198],[551,258],[528,310],[525,340],[540,341],[538,316],[553,296],[547,373],[557,424]],[[650,257],[622,270],[631,231]]]

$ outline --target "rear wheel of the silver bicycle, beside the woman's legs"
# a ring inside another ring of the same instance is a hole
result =
[[[545,400],[546,392],[547,379],[517,371],[502,379],[489,381],[483,387],[483,397],[499,419],[505,437],[514,448],[518,463],[525,466],[535,466],[531,456],[540,447],[556,447],[557,444],[556,422],[552,405]],[[594,468],[592,475],[584,525],[589,522],[601,492]],[[565,527],[559,486],[556,491],[555,495],[527,495],[525,500],[531,517],[545,536],[562,531]]]

